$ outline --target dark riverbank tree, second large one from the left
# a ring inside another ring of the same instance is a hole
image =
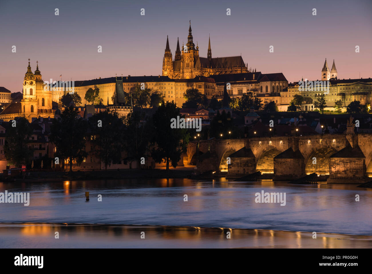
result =
[[[85,151],[85,134],[87,122],[78,118],[77,111],[72,106],[66,108],[60,118],[54,119],[51,127],[50,141],[56,146],[54,156],[64,163],[67,159],[72,171],[73,161],[80,165],[88,153]]]

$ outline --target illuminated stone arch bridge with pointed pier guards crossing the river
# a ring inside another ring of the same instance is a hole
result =
[[[372,134],[213,138],[190,142],[184,159],[200,172],[212,169],[230,178],[261,171],[290,180],[315,172],[329,175],[327,182],[360,183],[372,172]]]

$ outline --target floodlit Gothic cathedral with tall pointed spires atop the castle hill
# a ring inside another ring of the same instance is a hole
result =
[[[232,74],[232,73],[247,73],[248,64],[246,65],[241,56],[217,57],[212,58],[211,38],[209,37],[207,57],[199,57],[198,44],[193,43],[191,33],[191,21],[189,27],[189,36],[187,36],[187,44],[182,44],[180,49],[179,39],[177,38],[177,48],[174,60],[169,47],[167,36],[167,44],[163,57],[163,76],[168,76],[171,79],[192,79],[196,76],[209,77],[210,75]]]

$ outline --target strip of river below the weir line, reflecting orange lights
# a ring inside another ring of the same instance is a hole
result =
[[[56,237],[58,232],[58,238]],[[370,248],[372,236],[187,226],[0,223],[3,248]]]

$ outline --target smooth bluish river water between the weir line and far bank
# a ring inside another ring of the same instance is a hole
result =
[[[228,227],[372,235],[372,191],[356,185],[291,185],[191,179],[0,183],[29,192],[30,204],[0,204],[0,223],[94,223]],[[85,192],[90,192],[86,201]],[[256,203],[256,192],[286,193],[286,204]],[[98,201],[98,195],[102,201]],[[187,201],[184,201],[184,195]],[[359,195],[359,201],[355,201]]]

